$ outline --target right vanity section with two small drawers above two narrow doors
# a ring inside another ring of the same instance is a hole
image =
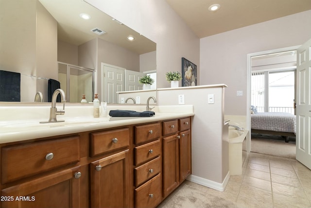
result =
[[[168,127],[176,127],[172,123],[177,123],[177,130]],[[167,197],[191,173],[191,125],[190,118],[164,121],[162,125],[171,130],[163,130],[163,197]]]

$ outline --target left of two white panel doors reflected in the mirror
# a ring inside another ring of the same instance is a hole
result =
[[[117,104],[117,92],[124,91],[125,69],[102,63],[102,71],[104,71],[102,78],[104,101],[108,104]]]

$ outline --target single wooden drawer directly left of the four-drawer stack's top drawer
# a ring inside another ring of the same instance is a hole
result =
[[[129,135],[128,128],[91,133],[91,156],[97,156],[123,147],[128,147]]]

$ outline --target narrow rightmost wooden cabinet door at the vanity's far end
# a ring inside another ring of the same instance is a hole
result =
[[[180,183],[191,173],[191,134],[190,130],[179,134],[179,170]]]

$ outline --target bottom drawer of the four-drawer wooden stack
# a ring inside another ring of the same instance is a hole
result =
[[[162,179],[156,175],[142,186],[135,189],[137,208],[154,208],[161,202]]]

